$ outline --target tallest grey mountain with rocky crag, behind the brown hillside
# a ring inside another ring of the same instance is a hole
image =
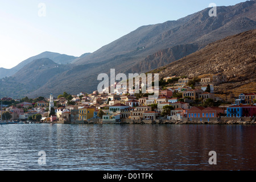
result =
[[[97,76],[109,75],[112,68],[116,74],[148,72],[199,51],[209,43],[256,28],[256,1],[217,7],[216,17],[209,16],[210,9],[175,21],[139,27],[93,53],[76,58],[63,72],[39,88],[27,91],[26,96],[92,92],[100,82]]]

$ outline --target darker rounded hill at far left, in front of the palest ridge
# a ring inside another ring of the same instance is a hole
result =
[[[48,58],[36,59],[25,65],[13,76],[0,80],[0,95],[23,97],[39,89],[48,80],[70,69],[69,64],[57,64]]]

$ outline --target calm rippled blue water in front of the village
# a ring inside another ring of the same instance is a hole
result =
[[[256,126],[1,125],[0,136],[0,170],[256,169]]]

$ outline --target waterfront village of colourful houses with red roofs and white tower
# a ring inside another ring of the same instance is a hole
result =
[[[151,99],[154,87],[145,94],[124,92],[115,83],[114,94],[64,92],[49,98],[1,99],[1,121],[36,123],[256,123],[256,94],[241,93],[234,102],[214,94],[214,86],[226,82],[223,74],[197,80],[170,76],[173,82],[159,86],[158,98]],[[113,86],[113,85],[112,85]]]

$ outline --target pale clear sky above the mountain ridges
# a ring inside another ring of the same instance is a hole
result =
[[[242,0],[0,0],[0,68],[50,51],[81,56],[138,27]]]

